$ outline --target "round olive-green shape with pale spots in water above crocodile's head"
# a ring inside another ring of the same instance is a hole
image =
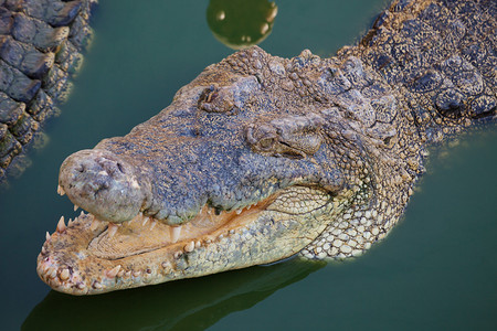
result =
[[[271,34],[277,10],[276,3],[267,0],[211,0],[207,20],[220,42],[242,50]]]

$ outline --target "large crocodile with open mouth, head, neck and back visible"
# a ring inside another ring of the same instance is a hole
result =
[[[61,166],[84,211],[38,274],[71,295],[290,257],[347,259],[399,222],[431,146],[496,122],[495,1],[398,0],[329,58],[257,46]]]

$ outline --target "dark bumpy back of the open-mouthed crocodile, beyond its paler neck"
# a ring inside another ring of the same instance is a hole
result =
[[[340,56],[379,73],[422,140],[436,142],[496,118],[496,17],[494,0],[396,1]]]

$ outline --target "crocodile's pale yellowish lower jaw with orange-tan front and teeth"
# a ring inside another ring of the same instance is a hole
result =
[[[272,201],[260,202],[241,214],[223,215],[224,223],[208,228],[200,237],[187,234],[175,241],[170,236],[163,243],[156,241],[147,249],[125,249],[127,254],[112,245],[101,249],[105,245],[97,243],[97,238],[109,236],[109,224],[92,222],[93,215],[82,213],[67,226],[59,225],[54,234],[47,235],[38,257],[38,274],[57,291],[95,295],[268,264],[310,244],[326,227],[320,218],[337,212],[332,211],[331,203],[296,220],[294,215],[266,210]],[[190,224],[195,222],[202,224],[199,220]],[[124,241],[124,234],[133,233],[134,226],[121,225],[110,241]],[[172,229],[152,220],[147,226],[154,226],[154,234]],[[138,238],[139,234],[144,232],[138,232]]]

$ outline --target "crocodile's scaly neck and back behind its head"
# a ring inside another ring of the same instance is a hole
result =
[[[361,254],[398,222],[424,171],[425,148],[496,119],[496,18],[491,0],[398,1],[358,46],[338,52],[332,76],[343,90],[336,104],[363,105],[350,116],[362,122],[362,139],[369,140],[362,146],[374,193],[359,195],[342,222],[302,254]]]

